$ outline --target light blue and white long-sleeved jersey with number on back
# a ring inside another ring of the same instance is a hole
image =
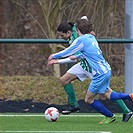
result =
[[[53,58],[67,57],[76,52],[81,52],[83,54],[96,74],[105,74],[111,70],[110,65],[103,58],[102,51],[100,50],[95,37],[91,34],[85,34],[78,37],[68,48],[53,54]]]

